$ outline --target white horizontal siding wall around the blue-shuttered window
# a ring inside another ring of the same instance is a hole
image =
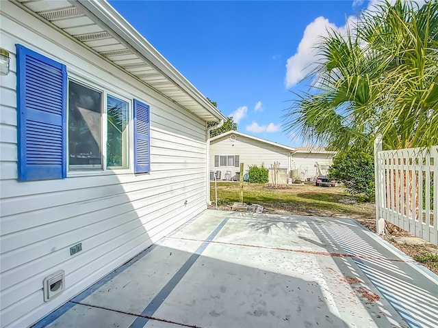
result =
[[[27,327],[205,209],[205,122],[12,3],[2,3],[1,25],[11,54],[0,93],[1,327]],[[150,105],[151,173],[18,182],[15,43]],[[66,290],[44,303],[42,280],[59,269]]]

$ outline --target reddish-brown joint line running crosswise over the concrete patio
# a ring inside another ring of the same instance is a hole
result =
[[[250,244],[242,244],[242,243],[230,243],[227,241],[203,241],[196,238],[183,238],[183,237],[172,237],[166,236],[164,238],[169,239],[177,239],[181,241],[196,241],[199,243],[209,243],[209,244],[218,244],[218,245],[232,245],[232,246],[242,246],[242,247],[253,247],[253,248],[261,248],[261,249],[272,249],[274,251],[289,251],[292,253],[300,253],[300,254],[312,254],[312,255],[320,255],[320,256],[331,256],[337,258],[359,258],[362,260],[378,260],[378,261],[389,261],[389,262],[404,262],[404,263],[415,263],[414,260],[400,260],[397,258],[381,258],[378,256],[364,256],[364,255],[356,255],[356,254],[341,254],[341,253],[330,253],[329,251],[306,251],[304,249],[290,249],[283,247],[268,247],[261,245],[250,245]]]

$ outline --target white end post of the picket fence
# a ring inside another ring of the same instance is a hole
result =
[[[383,207],[383,202],[385,202],[383,188],[385,181],[382,174],[381,159],[378,158],[378,152],[382,150],[382,135],[377,135],[374,140],[374,183],[376,189],[376,232],[378,234],[385,233],[385,219],[381,215],[381,208]]]

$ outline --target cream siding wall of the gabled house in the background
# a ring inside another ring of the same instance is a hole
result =
[[[270,168],[274,162],[279,162],[280,167],[289,168],[289,151],[264,143],[258,140],[236,135],[235,141],[229,139],[229,135],[211,141],[210,144],[210,171],[222,172],[221,178],[227,171],[231,171],[231,176],[235,172],[240,172],[240,167],[216,167],[214,166],[214,155],[239,155],[240,163],[244,163],[244,172],[253,165],[264,165]]]

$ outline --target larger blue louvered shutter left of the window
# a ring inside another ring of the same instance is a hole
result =
[[[65,178],[66,66],[16,44],[18,180]]]

